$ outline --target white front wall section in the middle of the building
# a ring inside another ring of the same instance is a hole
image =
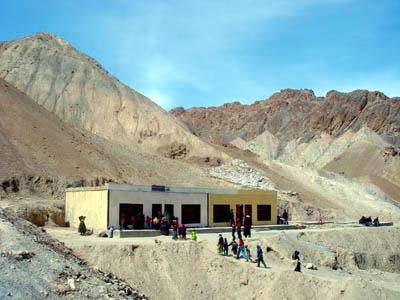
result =
[[[173,193],[173,192],[143,192],[143,191],[117,191],[110,190],[109,203],[109,225],[119,226],[119,205],[143,204],[143,214],[151,216],[152,204],[162,204],[164,211],[165,204],[174,205],[174,215],[182,220],[182,204],[200,204],[200,221],[198,224],[188,224],[189,226],[207,226],[208,209],[207,194],[205,193]]]

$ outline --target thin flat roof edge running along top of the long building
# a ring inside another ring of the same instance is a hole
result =
[[[67,188],[66,192],[80,192],[80,191],[126,191],[126,192],[160,192],[160,193],[190,193],[190,194],[242,194],[242,193],[276,193],[272,190],[237,190],[228,188],[200,188],[200,187],[172,187],[165,186],[165,191],[153,190],[152,186],[149,185],[132,185],[132,184],[116,184],[106,183],[104,186],[96,187],[77,187]]]

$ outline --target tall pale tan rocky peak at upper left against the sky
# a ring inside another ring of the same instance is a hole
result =
[[[0,78],[77,128],[172,158],[226,158],[65,40],[38,33],[0,45]]]

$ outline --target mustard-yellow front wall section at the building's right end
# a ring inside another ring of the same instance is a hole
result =
[[[253,225],[272,225],[277,222],[277,192],[241,190],[238,194],[209,194],[208,195],[208,224],[209,226],[230,226],[229,223],[214,223],[214,204],[226,204],[233,209],[236,218],[236,205],[250,204]],[[271,205],[271,220],[257,220],[257,205]]]

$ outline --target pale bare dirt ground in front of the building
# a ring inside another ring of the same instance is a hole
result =
[[[80,237],[47,228],[90,265],[113,271],[152,299],[399,299],[400,227],[324,225],[305,230],[253,231],[252,255],[261,244],[267,269],[217,254],[218,234],[198,241],[171,237]],[[230,240],[230,234],[224,234]],[[379,238],[379,243],[376,241]],[[273,249],[266,253],[266,246]],[[297,249],[302,273],[291,259]],[[305,268],[311,263],[317,270]]]

